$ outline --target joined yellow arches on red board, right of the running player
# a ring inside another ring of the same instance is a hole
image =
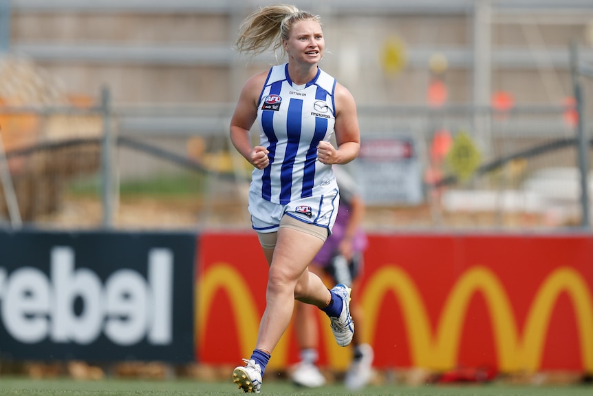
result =
[[[532,302],[523,336],[519,336],[513,309],[497,276],[486,267],[468,269],[456,282],[444,303],[436,334],[431,333],[422,296],[402,269],[386,266],[374,273],[365,287],[361,304],[367,317],[363,339],[371,340],[382,314],[380,302],[392,291],[398,297],[410,342],[413,366],[444,370],[456,366],[463,320],[471,297],[482,291],[490,309],[499,369],[537,371],[546,331],[561,292],[570,296],[576,311],[583,354],[583,368],[593,371],[592,295],[581,275],[561,267],[548,275]]]

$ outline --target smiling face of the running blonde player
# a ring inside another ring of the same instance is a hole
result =
[[[323,30],[316,21],[300,21],[292,25],[290,37],[284,42],[291,59],[305,63],[317,63],[325,50]]]

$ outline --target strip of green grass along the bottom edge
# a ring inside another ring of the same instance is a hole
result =
[[[264,382],[262,395],[393,395],[393,396],[590,396],[593,386],[510,386],[508,384],[483,384],[469,386],[369,386],[358,393],[348,393],[341,384],[322,388],[297,388],[289,382]],[[131,396],[131,395],[243,395],[230,382],[198,382],[194,380],[146,381],[104,379],[101,381],[76,381],[73,379],[23,379],[0,377],[0,395],[36,396]]]

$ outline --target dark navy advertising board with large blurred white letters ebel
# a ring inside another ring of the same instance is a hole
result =
[[[0,233],[0,353],[191,362],[195,239]]]

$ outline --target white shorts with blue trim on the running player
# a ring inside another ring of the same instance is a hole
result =
[[[338,215],[340,194],[335,179],[327,185],[313,188],[313,196],[294,200],[286,205],[261,198],[249,191],[249,213],[253,229],[260,233],[278,231],[280,220],[285,214],[303,222],[324,227],[332,235],[332,227]]]

